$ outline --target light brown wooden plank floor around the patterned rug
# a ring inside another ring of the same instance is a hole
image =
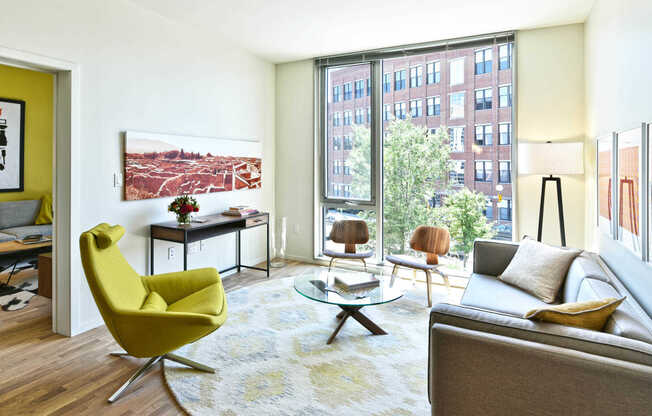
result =
[[[288,262],[284,268],[272,269],[271,278],[295,276],[317,267]],[[225,277],[223,282],[229,291],[266,279],[262,272],[247,270]],[[459,294],[461,291],[452,296]],[[73,338],[52,333],[50,308],[49,299],[35,296],[22,310],[0,310],[0,415],[184,413],[163,380],[161,364],[120,400],[108,404],[107,398],[145,360],[109,356],[120,348],[104,326]]]

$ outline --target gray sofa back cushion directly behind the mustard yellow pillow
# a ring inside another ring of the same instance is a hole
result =
[[[606,297],[622,297],[620,293],[607,282],[597,279],[584,279],[578,293],[578,301],[603,299]],[[603,331],[625,338],[637,339],[652,344],[652,330],[649,327],[649,317],[636,313],[627,298],[611,315]],[[644,322],[648,322],[646,325]]]

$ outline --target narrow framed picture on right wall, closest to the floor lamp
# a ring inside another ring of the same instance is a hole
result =
[[[597,201],[598,201],[598,229],[601,233],[613,236],[612,227],[612,179],[613,168],[613,136],[605,135],[597,139]]]

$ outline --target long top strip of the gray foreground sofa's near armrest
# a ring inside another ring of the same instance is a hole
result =
[[[568,348],[652,366],[652,344],[600,331],[531,321],[483,309],[439,303],[430,312],[435,324]]]

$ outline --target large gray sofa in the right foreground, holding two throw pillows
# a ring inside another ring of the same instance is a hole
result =
[[[518,244],[476,241],[461,305],[431,311],[432,414],[652,414],[652,267],[607,246],[573,261],[557,302],[627,296],[600,332],[523,319],[546,304],[497,278]]]

